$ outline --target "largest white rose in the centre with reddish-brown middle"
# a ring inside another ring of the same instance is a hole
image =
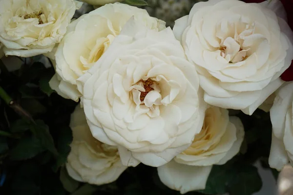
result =
[[[199,80],[168,27],[129,20],[78,79],[93,136],[118,145],[127,166],[161,166],[187,149],[203,124]]]

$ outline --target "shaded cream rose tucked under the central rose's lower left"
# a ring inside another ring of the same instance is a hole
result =
[[[126,170],[115,146],[92,137],[84,110],[78,105],[71,115],[73,134],[66,168],[69,176],[81,182],[102,185],[115,181]]]

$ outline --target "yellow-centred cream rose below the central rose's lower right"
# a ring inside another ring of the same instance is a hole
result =
[[[238,117],[229,117],[226,109],[210,107],[203,128],[189,148],[169,163],[158,167],[161,181],[181,194],[203,190],[212,165],[222,165],[235,156],[244,138]]]

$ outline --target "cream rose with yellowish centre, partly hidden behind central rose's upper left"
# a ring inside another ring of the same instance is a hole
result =
[[[132,16],[148,28],[166,28],[164,21],[150,17],[146,10],[122,3],[106,4],[83,15],[68,26],[57,48],[56,73],[61,79],[60,82],[56,79],[56,82],[50,82],[51,88],[78,101],[81,94],[77,90],[76,79],[103,55]]]

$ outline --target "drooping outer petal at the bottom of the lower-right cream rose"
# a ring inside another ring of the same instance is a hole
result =
[[[212,166],[189,166],[174,160],[158,167],[161,181],[173,190],[185,194],[194,190],[204,190]]]

